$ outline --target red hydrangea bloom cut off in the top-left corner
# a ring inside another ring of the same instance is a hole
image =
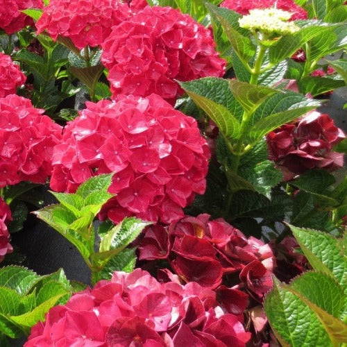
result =
[[[0,0],[0,29],[11,35],[25,26],[33,25],[33,19],[20,11],[42,7],[42,0]]]

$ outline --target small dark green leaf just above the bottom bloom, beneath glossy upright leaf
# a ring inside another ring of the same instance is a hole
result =
[[[135,268],[136,254],[135,248],[124,248],[105,264],[103,269],[98,273],[99,280],[108,280],[115,271],[131,272]]]

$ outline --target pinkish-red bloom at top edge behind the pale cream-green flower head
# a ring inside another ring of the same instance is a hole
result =
[[[293,12],[291,20],[307,19],[307,12],[296,5],[294,0],[224,0],[221,7],[229,8],[229,10],[239,12],[241,15],[248,15],[249,10],[273,7],[275,3],[279,10]]]

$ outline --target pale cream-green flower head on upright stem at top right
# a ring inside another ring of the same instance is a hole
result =
[[[239,26],[266,36],[282,36],[296,33],[300,28],[288,22],[292,13],[277,8],[250,10],[249,15],[239,19]]]

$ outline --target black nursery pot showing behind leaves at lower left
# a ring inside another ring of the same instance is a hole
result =
[[[40,187],[44,195],[44,205],[57,203],[48,187]],[[90,285],[91,272],[83,257],[65,237],[37,217],[24,225],[20,232],[12,234],[12,244],[26,255],[27,266],[39,275],[53,273],[63,268],[69,280]]]

